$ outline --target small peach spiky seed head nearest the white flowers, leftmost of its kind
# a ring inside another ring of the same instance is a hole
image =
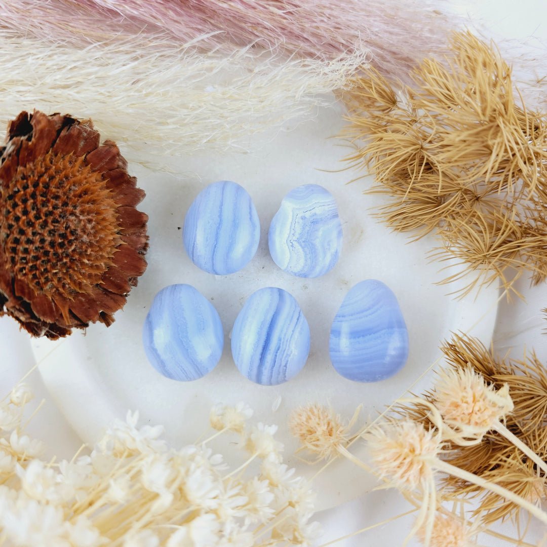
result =
[[[317,454],[319,459],[339,455],[337,448],[347,443],[348,426],[327,406],[317,403],[299,406],[289,421],[290,432],[302,447]]]

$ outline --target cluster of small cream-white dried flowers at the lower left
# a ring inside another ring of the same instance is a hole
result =
[[[22,434],[31,397],[20,386],[0,404],[2,546],[252,547],[317,536],[310,485],[283,464],[275,426],[248,425],[246,405],[211,412],[214,442],[229,435],[244,455],[230,470],[213,437],[174,450],[161,426],[137,426],[138,412],[88,454],[44,462],[43,444]]]

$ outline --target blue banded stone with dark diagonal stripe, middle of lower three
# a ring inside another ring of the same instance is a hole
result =
[[[243,376],[275,386],[298,374],[310,353],[310,328],[286,290],[266,287],[249,296],[232,330],[232,356]]]

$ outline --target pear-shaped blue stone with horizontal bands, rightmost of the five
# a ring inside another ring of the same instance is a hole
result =
[[[329,339],[337,373],[356,382],[376,382],[406,363],[409,339],[395,295],[381,281],[357,283],[336,313]]]

